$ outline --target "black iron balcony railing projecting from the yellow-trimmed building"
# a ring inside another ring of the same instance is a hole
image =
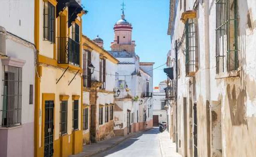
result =
[[[69,37],[57,37],[58,63],[80,67],[80,44]]]

